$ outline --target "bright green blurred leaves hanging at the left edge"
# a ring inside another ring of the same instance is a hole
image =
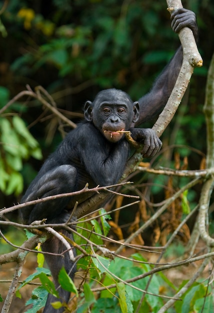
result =
[[[9,91],[0,87],[0,108],[9,101]],[[14,109],[17,107],[13,104]],[[11,109],[11,108],[10,108]],[[42,157],[38,142],[26,128],[24,121],[17,115],[4,113],[0,116],[0,190],[5,194],[19,194],[23,189],[20,174],[22,160],[30,156]]]

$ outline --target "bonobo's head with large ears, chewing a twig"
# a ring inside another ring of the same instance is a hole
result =
[[[132,122],[139,118],[139,104],[132,102],[127,93],[117,89],[106,89],[97,93],[93,102],[84,105],[84,117],[111,142],[116,142],[129,130]]]

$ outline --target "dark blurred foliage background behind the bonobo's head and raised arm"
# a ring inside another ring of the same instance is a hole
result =
[[[190,87],[161,139],[163,148],[179,144],[198,149],[179,149],[181,162],[188,156],[188,167],[197,169],[206,152],[202,106],[214,51],[214,3],[183,0],[182,4],[196,13],[203,67],[194,70]],[[42,85],[60,111],[77,122],[85,100],[92,100],[100,89],[120,88],[133,100],[145,94],[178,45],[164,0],[0,1],[0,108],[26,84],[32,89]],[[19,100],[0,118],[3,207],[20,199],[61,134],[57,117],[36,100]],[[144,126],[151,127],[153,122]],[[65,130],[69,130],[66,125]],[[171,151],[162,153],[161,165],[173,164]],[[165,183],[162,178],[154,179]],[[158,187],[153,191],[158,192]]]

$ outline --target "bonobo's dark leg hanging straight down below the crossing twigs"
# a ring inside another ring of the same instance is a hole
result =
[[[53,218],[49,222],[50,223],[56,223],[56,222],[63,223],[68,218],[69,218],[69,213],[65,212],[65,213],[61,213],[59,217]],[[64,229],[61,229],[60,232],[62,232],[63,235],[73,240],[71,233],[68,233]],[[63,245],[63,243],[54,236],[52,236],[50,239],[46,240],[42,244],[42,251],[45,251],[45,252],[62,253],[65,250],[66,250],[66,247]],[[73,252],[73,256],[75,256],[76,254],[75,254],[74,248],[72,249],[72,252]],[[75,264],[73,264],[73,262],[70,260],[68,252],[63,253],[62,255],[45,254],[45,260],[52,273],[53,282],[54,282],[55,288],[57,288],[57,291],[59,293],[60,301],[67,303],[70,297],[70,292],[65,291],[59,287],[58,273],[61,267],[64,266],[70,278],[73,279],[74,273],[76,271]],[[54,297],[52,294],[48,294],[43,313],[62,313],[64,311],[63,308],[56,310],[50,304],[51,302],[55,302],[55,301],[58,301],[58,299]]]

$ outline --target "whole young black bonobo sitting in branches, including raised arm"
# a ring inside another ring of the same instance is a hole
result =
[[[197,25],[193,12],[179,9],[172,15],[172,28],[179,31],[188,26],[197,36]],[[44,162],[35,179],[31,182],[21,202],[43,198],[49,195],[79,190],[85,186],[114,184],[121,177],[128,157],[129,144],[123,131],[130,130],[133,139],[143,142],[142,156],[153,156],[161,147],[161,141],[151,129],[133,128],[134,125],[153,117],[166,103],[182,62],[182,49],[178,48],[172,60],[155,81],[151,91],[132,102],[129,96],[116,89],[100,91],[93,102],[84,106],[84,120],[71,130],[58,148]],[[70,216],[73,203],[84,200],[82,195],[62,197],[22,208],[24,222],[47,219],[48,223],[62,223]],[[62,232],[71,237],[65,230]],[[63,244],[51,237],[42,244],[42,250],[61,253]],[[75,251],[73,250],[75,254]],[[62,266],[70,277],[75,271],[68,253],[63,256],[45,254],[53,275],[55,286]],[[69,292],[58,288],[62,301],[69,300]],[[48,295],[45,313],[63,312],[50,305],[55,297]]]

